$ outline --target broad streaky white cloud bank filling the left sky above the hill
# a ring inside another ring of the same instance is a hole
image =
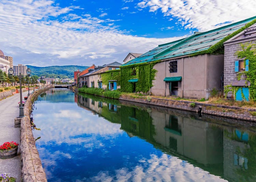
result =
[[[169,39],[126,35],[110,22],[79,6],[59,7],[51,0],[0,1],[0,49],[13,56],[14,65],[103,65],[122,62],[129,52],[145,53]],[[101,11],[101,10],[100,10]],[[94,54],[95,53],[95,54]]]

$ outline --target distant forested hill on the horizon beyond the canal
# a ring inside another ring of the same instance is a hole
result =
[[[88,66],[48,66],[48,67],[36,67],[26,65],[31,69],[31,75],[46,76],[49,78],[74,78],[74,71],[78,69],[80,71],[85,70]]]

